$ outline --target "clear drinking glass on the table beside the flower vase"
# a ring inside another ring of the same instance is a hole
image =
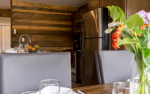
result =
[[[130,82],[115,82],[112,94],[135,94],[135,85]]]

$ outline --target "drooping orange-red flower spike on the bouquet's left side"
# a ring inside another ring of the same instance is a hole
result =
[[[122,36],[122,30],[124,29],[124,27],[125,27],[124,24],[120,25],[120,26],[117,28],[117,31],[112,34],[112,41],[113,41],[112,47],[113,47],[115,50],[117,50],[117,49],[120,48],[119,46],[117,46],[117,44],[118,44],[118,39],[121,38],[121,36]]]

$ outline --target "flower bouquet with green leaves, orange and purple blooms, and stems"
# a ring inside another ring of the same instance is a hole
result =
[[[131,15],[127,20],[120,7],[107,6],[113,22],[108,24],[105,33],[112,31],[112,47],[119,49],[124,45],[135,54],[137,64],[139,87],[138,94],[150,94],[149,69],[150,69],[150,12],[144,10]]]

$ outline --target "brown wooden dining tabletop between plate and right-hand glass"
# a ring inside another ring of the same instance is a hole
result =
[[[113,84],[100,84],[73,88],[74,91],[80,90],[84,94],[112,94]]]

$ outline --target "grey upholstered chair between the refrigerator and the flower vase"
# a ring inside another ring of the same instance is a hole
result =
[[[129,51],[95,52],[99,84],[107,84],[130,79],[133,54]]]

